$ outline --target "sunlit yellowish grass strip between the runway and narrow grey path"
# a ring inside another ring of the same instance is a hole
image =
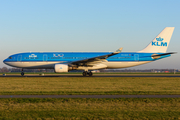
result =
[[[180,94],[178,77],[1,77],[1,95]]]

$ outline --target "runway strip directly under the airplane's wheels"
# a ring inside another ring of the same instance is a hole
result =
[[[0,77],[22,77],[19,74],[0,75]],[[83,77],[81,74],[27,74],[23,77]],[[89,76],[86,76],[89,77]],[[180,77],[180,74],[94,74],[91,77]]]

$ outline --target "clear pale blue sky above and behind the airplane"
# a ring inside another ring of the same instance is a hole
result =
[[[130,69],[180,69],[179,0],[0,0],[0,67],[29,51],[136,52],[175,27],[171,57]],[[129,69],[129,68],[128,68]]]

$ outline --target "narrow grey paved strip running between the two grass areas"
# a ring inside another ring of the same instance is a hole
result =
[[[180,98],[180,95],[0,95],[0,98]]]

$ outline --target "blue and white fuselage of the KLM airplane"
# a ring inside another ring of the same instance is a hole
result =
[[[89,59],[109,53],[110,52],[27,52],[11,55],[3,62],[7,65],[19,68],[53,69],[54,64],[57,63],[69,64],[73,61]],[[103,62],[103,64],[106,64],[107,68],[125,68],[126,66],[136,66],[171,56],[164,55],[154,59],[151,57],[153,54],[154,53],[122,52],[107,58],[106,62]],[[27,63],[29,65],[27,65]],[[113,65],[110,63],[113,63]],[[120,63],[124,65],[120,65]],[[129,63],[129,65],[126,65],[125,63]],[[115,64],[117,64],[117,67]]]

